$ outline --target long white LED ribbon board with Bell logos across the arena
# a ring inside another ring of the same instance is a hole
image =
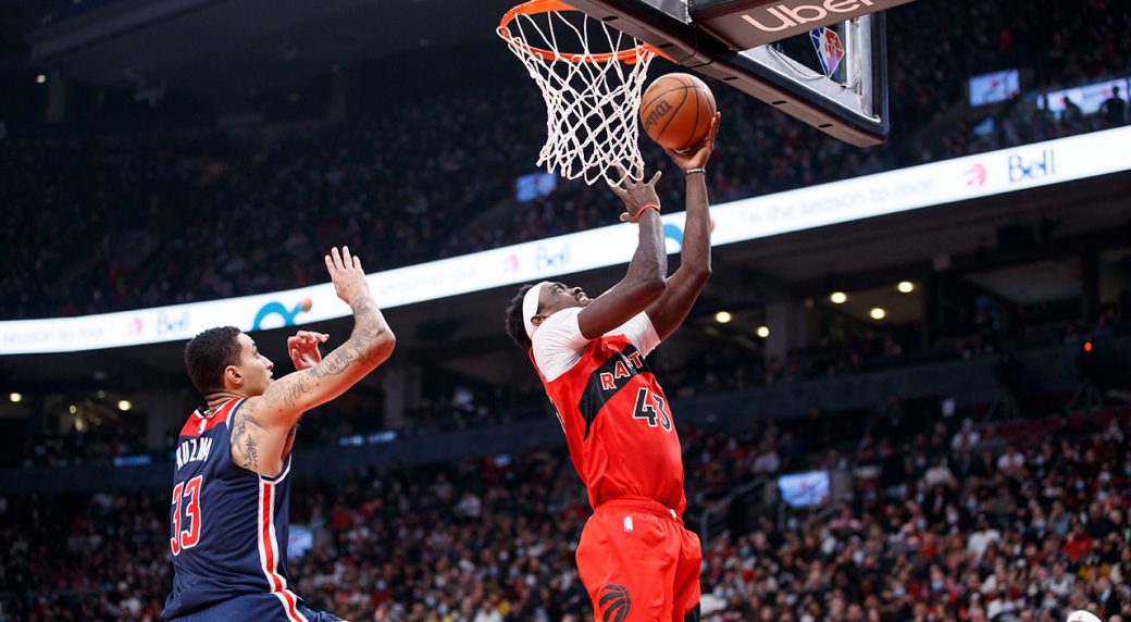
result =
[[[1131,127],[935,162],[711,207],[715,247],[1131,170]],[[664,216],[679,252],[683,214]],[[369,275],[383,308],[627,264],[636,227],[611,225]],[[329,284],[79,318],[0,322],[0,355],[187,340],[214,326],[299,326],[349,314]]]

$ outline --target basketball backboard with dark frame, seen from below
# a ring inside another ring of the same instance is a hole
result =
[[[910,0],[569,0],[845,142],[888,136],[883,10]]]

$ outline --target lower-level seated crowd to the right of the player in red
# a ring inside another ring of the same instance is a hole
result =
[[[1126,620],[1125,416],[1041,442],[1030,423],[1011,444],[942,424],[914,450],[865,435],[820,465],[853,473],[849,502],[710,545],[710,601],[722,620]]]

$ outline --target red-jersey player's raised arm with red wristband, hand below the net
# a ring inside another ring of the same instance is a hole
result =
[[[657,172],[647,183],[631,179],[624,188],[610,184],[624,201],[621,222],[639,223],[640,237],[624,278],[593,300],[578,316],[578,327],[587,339],[595,339],[623,325],[648,308],[664,293],[667,253],[664,250],[664,224],[659,219],[656,195]]]

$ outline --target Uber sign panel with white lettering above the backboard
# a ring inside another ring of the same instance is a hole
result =
[[[694,24],[735,51],[805,34],[910,0],[699,0]]]

